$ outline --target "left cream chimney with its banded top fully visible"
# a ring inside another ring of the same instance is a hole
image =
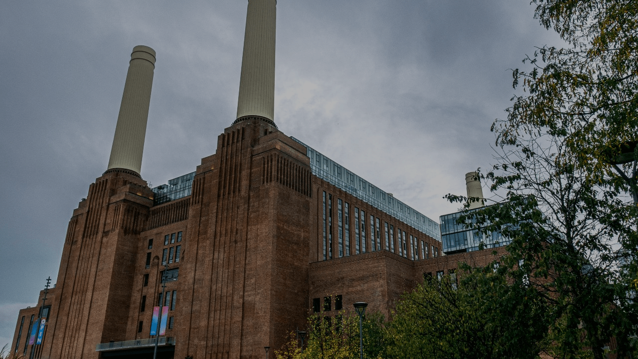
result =
[[[154,70],[155,51],[133,47],[107,172],[125,169],[140,174]]]

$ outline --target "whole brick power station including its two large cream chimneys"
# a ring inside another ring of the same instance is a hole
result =
[[[275,19],[276,0],[249,0],[237,118],[216,153],[155,188],[140,168],[156,53],[133,48],[106,171],[11,353],[263,358],[313,312],[367,302],[389,317],[424,275],[469,256],[443,256],[438,222],[278,130]]]

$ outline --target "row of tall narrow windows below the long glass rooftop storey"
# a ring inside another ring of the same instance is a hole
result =
[[[368,214],[369,217],[367,217],[366,211],[350,206],[350,203],[343,201],[343,199],[336,198],[336,201],[334,201],[332,194],[323,191],[322,254],[324,261],[334,257],[334,213],[336,213],[338,244],[336,249],[338,250],[339,258],[350,256],[351,252],[353,254],[374,252],[382,250],[383,247],[385,247],[385,250],[410,258],[413,261],[439,256],[438,247],[431,246],[424,240],[419,240],[417,236],[408,235],[406,231],[402,231],[398,227],[395,230],[393,224],[382,222],[375,215]],[[352,220],[353,223],[351,222]],[[351,245],[351,239],[354,241],[354,246]]]

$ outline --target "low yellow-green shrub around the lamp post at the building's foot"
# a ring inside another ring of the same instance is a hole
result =
[[[329,319],[328,319],[329,318]],[[309,317],[308,338],[301,352],[300,339],[295,332],[283,348],[275,351],[277,359],[346,359],[359,358],[359,315],[341,311],[334,317]],[[364,358],[384,358],[383,316],[378,312],[366,314],[362,323]]]

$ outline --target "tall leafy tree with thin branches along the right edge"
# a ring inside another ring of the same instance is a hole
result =
[[[540,298],[549,354],[602,359],[613,337],[622,357],[638,324],[638,208],[627,196],[638,194],[638,151],[623,155],[632,178],[609,162],[638,137],[638,3],[533,3],[568,46],[540,47],[530,70],[514,70],[524,95],[492,126],[498,163],[484,177],[501,200],[461,220],[512,239],[503,270]]]

